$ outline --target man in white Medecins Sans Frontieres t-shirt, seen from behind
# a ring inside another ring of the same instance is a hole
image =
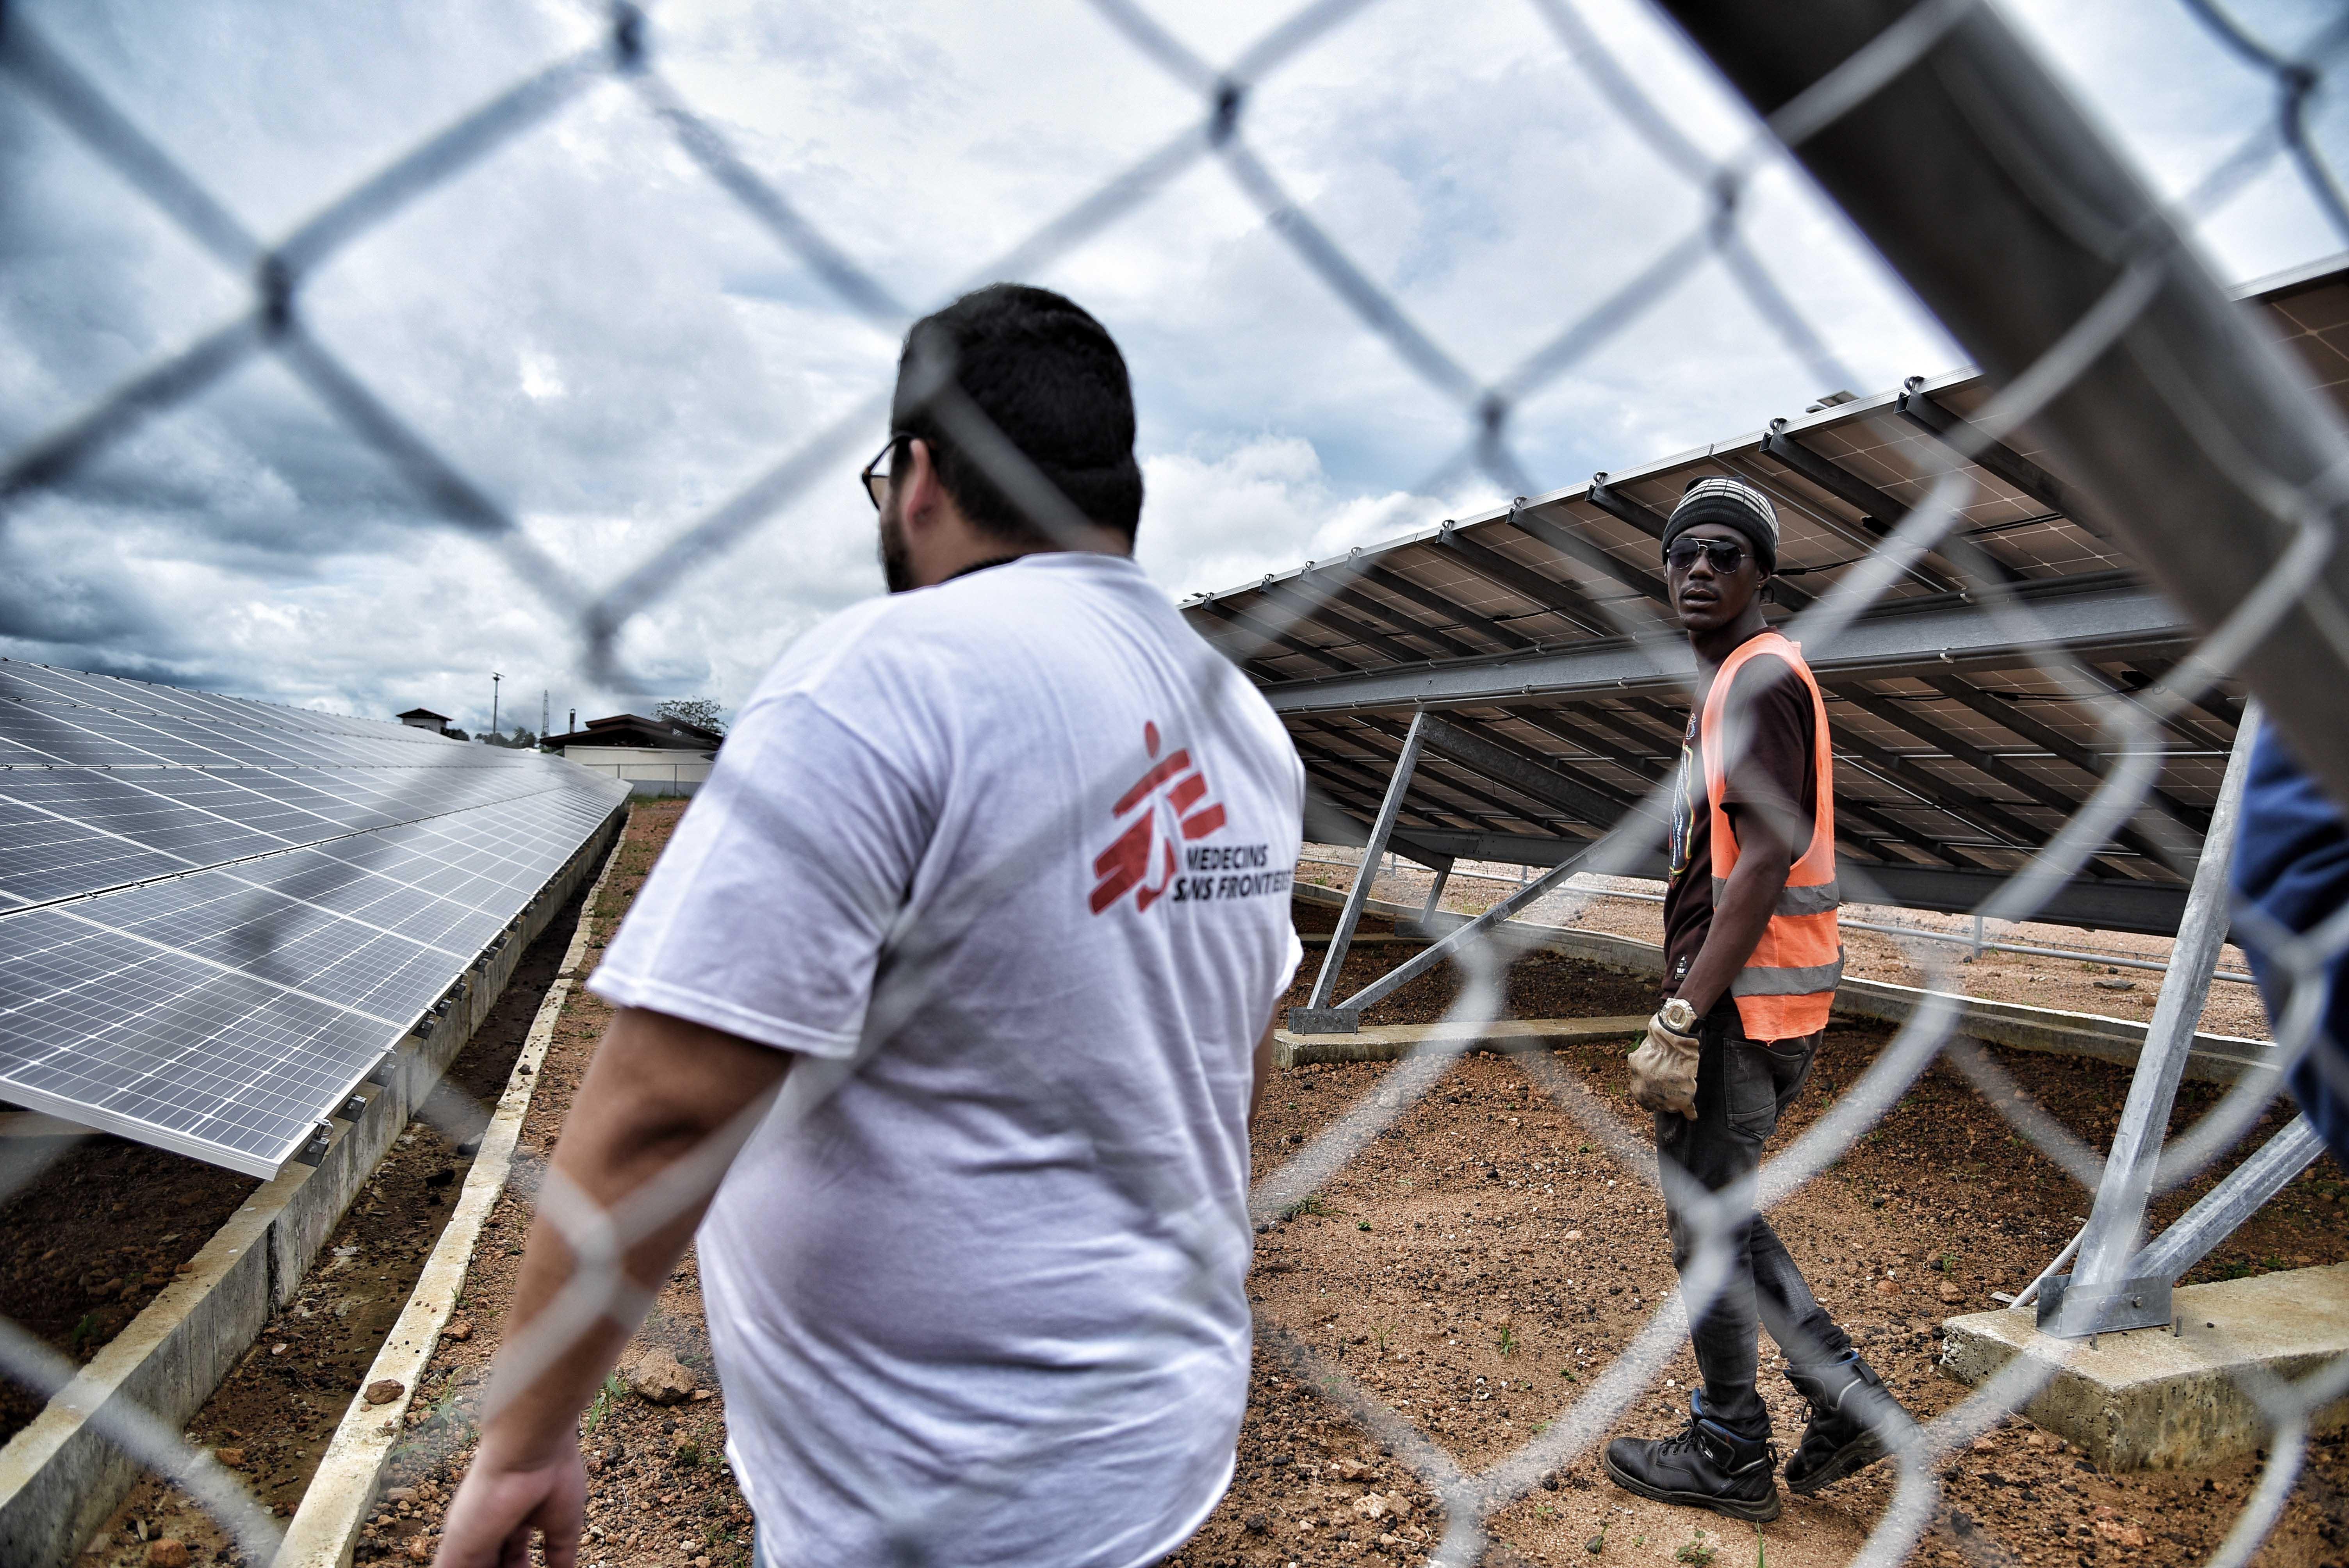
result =
[[[972,411],[1083,521],[1034,526]],[[627,1251],[627,1324],[500,1383],[442,1563],[576,1559],[578,1411],[695,1221],[763,1566],[1153,1563],[1231,1479],[1304,770],[1132,561],[1099,322],[965,296],[907,336],[890,423],[895,592],[766,676],[590,981],[620,1012],[550,1192],[681,1202]],[[728,1138],[702,1218],[688,1155]],[[540,1223],[510,1343],[568,1279]]]

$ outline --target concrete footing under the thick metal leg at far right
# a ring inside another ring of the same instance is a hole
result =
[[[2189,1284],[2175,1310],[2180,1333],[2105,1333],[2093,1347],[2039,1333],[2030,1307],[1952,1317],[1940,1366],[1976,1385],[2018,1354],[2055,1366],[2022,1413],[2105,1469],[2217,1465],[2269,1439],[2234,1373],[2257,1368],[2290,1380],[2349,1352],[2349,1263]],[[2311,1422],[2316,1432],[2342,1427],[2349,1399]]]

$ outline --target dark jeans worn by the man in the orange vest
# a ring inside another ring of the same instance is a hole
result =
[[[1762,1141],[1811,1080],[1816,1052],[1818,1035],[1762,1045],[1738,1030],[1736,1014],[1727,1021],[1708,1016],[1698,1026],[1696,1120],[1658,1115],[1656,1157],[1677,1162],[1708,1192],[1752,1176],[1762,1164]],[[1665,1216],[1672,1223],[1672,1268],[1687,1270],[1696,1237],[1670,1188]],[[1703,1319],[1691,1322],[1689,1340],[1705,1378],[1705,1413],[1752,1437],[1769,1427],[1769,1408],[1755,1392],[1757,1322],[1797,1366],[1837,1361],[1851,1350],[1851,1340],[1813,1300],[1766,1218],[1748,1209],[1743,1235],[1731,1249],[1729,1279]]]

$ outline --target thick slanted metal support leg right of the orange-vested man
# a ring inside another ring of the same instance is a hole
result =
[[[2152,1277],[2133,1261],[2145,1228],[2145,1202],[2161,1162],[2161,1138],[2170,1124],[2178,1080],[2194,1047],[2194,1026],[2210,998],[2217,951],[2227,944],[2227,866],[2234,859],[2234,831],[2243,815],[2243,777],[2250,770],[2250,744],[2260,732],[2260,704],[2243,707],[2203,836],[2187,911],[2178,922],[2170,969],[2161,976],[2154,1021],[2145,1028],[2138,1073],[2128,1082],[2121,1127],[2105,1157],[2105,1181],[2098,1185],[2088,1228],[2081,1232],[2079,1263],[2072,1275],[2055,1275],[2039,1291],[2039,1326],[2046,1333],[2079,1338],[2119,1329],[2152,1329],[2170,1322],[2170,1279]]]

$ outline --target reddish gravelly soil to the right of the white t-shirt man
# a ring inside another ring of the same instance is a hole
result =
[[[1299,906],[1299,930],[1330,930],[1332,911]],[[1372,934],[1386,922],[1365,920]],[[1372,979],[1407,948],[1386,946],[1346,965]],[[1304,1000],[1311,972],[1285,1000]],[[1449,1005],[1456,976],[1428,974],[1372,1021],[1428,1021]],[[1654,981],[1555,955],[1529,955],[1510,974],[1515,1016],[1609,1016],[1654,1007]],[[1797,1136],[1849,1087],[1889,1040],[1879,1028],[1832,1028],[1813,1089],[1804,1091],[1771,1150]],[[1628,1047],[1628,1040],[1623,1042]],[[1621,1049],[1553,1052],[1576,1089],[1628,1134],[1644,1117],[1623,1096]],[[2128,1091],[2123,1070],[1997,1052],[1999,1063],[2055,1120],[2095,1145]],[[1283,1075],[1257,1129],[1259,1169],[1271,1169],[1346,1108],[1377,1094],[1384,1063],[1306,1066]],[[2173,1127],[2215,1099],[2187,1084]],[[2276,1124],[2269,1115],[2246,1141]],[[2182,1211],[2227,1167],[2156,1204],[2154,1221]],[[2236,1277],[2349,1258],[2330,1162],[2269,1204],[2187,1279]],[[1860,1340],[1900,1399],[1919,1415],[1947,1411],[1966,1390],[1936,1368],[1940,1319],[1994,1305],[1992,1289],[2020,1289],[2079,1225],[2086,1195],[1957,1077],[1933,1068],[1825,1176],[1788,1199],[1773,1223],[1837,1319]],[[1257,1242],[1252,1296],[1259,1322],[1290,1331],[1330,1364],[1360,1378],[1463,1467],[1487,1467],[1571,1401],[1672,1289],[1663,1216],[1654,1195],[1604,1145],[1569,1120],[1501,1056],[1456,1063],[1388,1134],[1377,1138],[1315,1202]],[[1950,1300],[1954,1296],[1954,1300]],[[1694,1359],[1682,1350],[1618,1422],[1618,1434],[1663,1437],[1687,1413]],[[1804,1408],[1764,1371],[1778,1444],[1792,1448]],[[1943,1472],[1943,1500],[1917,1561],[2166,1563],[2208,1554],[2225,1535],[2257,1465],[2112,1476],[2060,1439],[2013,1418]],[[1788,1512],[1755,1542],[1750,1526],[1668,1509],[1611,1486],[1595,1453],[1550,1476],[1496,1521],[1496,1561],[1672,1563],[1727,1552],[1724,1561],[1842,1563],[1891,1495],[1877,1467]],[[1400,1500],[1407,1512],[1393,1509]],[[1377,1493],[1379,1519],[1362,1498]],[[1400,1523],[1398,1523],[1400,1514]],[[2316,1446],[2314,1460],[2260,1563],[2349,1561],[2349,1448]],[[1698,1530],[1701,1537],[1691,1537]],[[1259,1350],[1257,1387],[1240,1439],[1240,1479],[1177,1561],[1313,1563],[1421,1561],[1440,1533],[1431,1495],[1325,1399]],[[1600,1542],[1590,1552],[1590,1542]],[[2060,1545],[2058,1545],[2060,1542]],[[1689,1547],[1689,1556],[1677,1556]]]

